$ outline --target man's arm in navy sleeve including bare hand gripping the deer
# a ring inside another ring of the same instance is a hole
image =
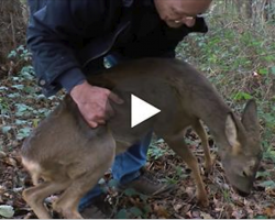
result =
[[[46,90],[64,87],[92,128],[105,123],[108,114],[112,114],[108,99],[121,101],[108,89],[89,85],[75,57],[75,47],[86,36],[85,28],[94,26],[99,31],[97,21],[102,20],[105,8],[101,2],[29,0],[32,16],[28,44],[40,85]]]

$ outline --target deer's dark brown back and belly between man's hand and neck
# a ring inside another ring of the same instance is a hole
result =
[[[119,113],[110,124],[116,135],[132,136],[131,140],[150,130],[168,135],[204,118],[206,108],[209,112],[219,108],[217,105],[227,108],[202,74],[185,62],[170,58],[123,63],[102,75],[90,76],[89,81],[123,98],[124,107],[114,106]],[[158,108],[161,113],[131,129],[131,95]],[[123,121],[128,123],[121,123]]]

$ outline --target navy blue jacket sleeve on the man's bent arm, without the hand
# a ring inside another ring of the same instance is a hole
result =
[[[96,3],[101,1],[29,0],[28,45],[38,85],[46,96],[54,95],[61,87],[68,91],[85,80],[75,54],[85,37],[84,25],[92,26],[103,14],[99,10],[103,7]]]

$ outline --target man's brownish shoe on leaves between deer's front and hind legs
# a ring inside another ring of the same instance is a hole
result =
[[[118,189],[124,190],[127,188],[133,188],[140,194],[156,196],[167,193],[175,187],[175,185],[161,183],[154,174],[145,170],[144,168],[142,168],[140,172],[141,175],[136,179],[125,185],[119,185]]]

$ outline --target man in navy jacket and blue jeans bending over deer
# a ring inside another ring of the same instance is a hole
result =
[[[108,99],[121,103],[106,88],[89,85],[85,74],[125,59],[174,57],[175,47],[190,32],[207,32],[204,13],[211,0],[29,0],[31,20],[28,44],[38,84],[46,96],[61,88],[77,103],[91,128],[105,124]],[[111,96],[112,95],[112,96]],[[142,167],[151,140],[148,134],[128,152],[117,156],[112,167],[120,187],[154,195],[169,187]],[[76,146],[77,147],[77,146]],[[92,189],[80,204],[90,205],[103,218],[98,200],[101,190]]]

